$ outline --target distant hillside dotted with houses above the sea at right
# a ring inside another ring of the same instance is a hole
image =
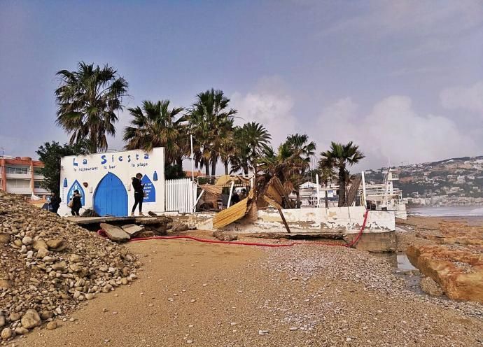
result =
[[[368,183],[380,183],[385,168],[365,171]],[[483,156],[461,157],[393,167],[395,187],[409,204],[435,206],[483,204]]]

